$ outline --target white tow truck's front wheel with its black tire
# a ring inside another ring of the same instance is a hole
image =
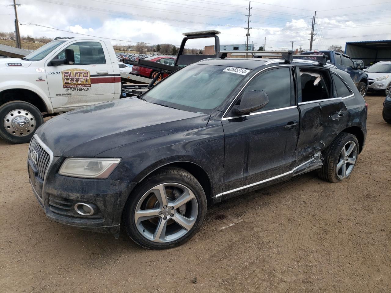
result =
[[[9,143],[30,142],[43,123],[37,107],[23,101],[12,101],[0,107],[0,138]]]

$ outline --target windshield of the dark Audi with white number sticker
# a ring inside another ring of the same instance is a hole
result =
[[[219,65],[190,65],[161,81],[142,98],[184,111],[212,113],[249,71]]]

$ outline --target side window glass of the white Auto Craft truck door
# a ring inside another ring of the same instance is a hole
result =
[[[103,48],[99,42],[74,43],[66,47],[66,49],[74,50],[74,65],[106,64]],[[65,58],[65,49],[58,54],[57,58]]]

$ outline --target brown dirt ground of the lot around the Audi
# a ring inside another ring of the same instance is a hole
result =
[[[223,202],[165,251],[48,220],[28,182],[28,145],[0,141],[0,292],[391,292],[391,125],[384,96],[366,100],[350,179],[308,173]]]

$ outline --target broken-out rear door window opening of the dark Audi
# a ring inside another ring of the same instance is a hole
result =
[[[331,83],[322,71],[300,68],[301,102],[330,98]]]

